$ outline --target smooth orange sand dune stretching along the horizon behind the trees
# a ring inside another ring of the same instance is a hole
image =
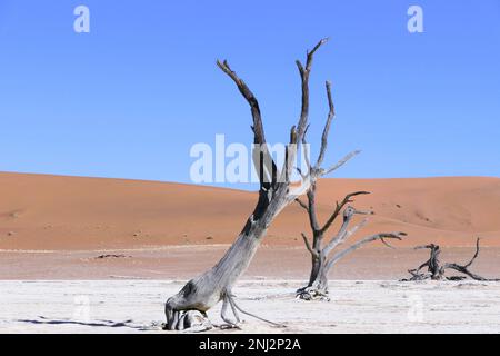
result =
[[[376,215],[358,235],[402,230],[400,246],[500,246],[500,179],[443,177],[323,179],[321,218],[343,195],[368,190],[353,204]],[[256,194],[170,182],[0,174],[0,249],[106,249],[229,244]],[[298,206],[282,212],[264,239],[300,245],[308,233]],[[356,237],[354,237],[356,238]]]

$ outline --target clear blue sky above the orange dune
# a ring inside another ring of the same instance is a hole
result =
[[[196,142],[269,141],[300,109],[294,60],[320,38],[310,140],[333,82],[337,177],[500,176],[500,1],[0,0],[0,170],[189,182]],[[73,9],[91,32],[73,31]],[[419,4],[424,33],[409,33]],[[243,187],[243,186],[236,186]],[[247,188],[247,187],[243,187]],[[251,188],[251,187],[250,187]]]

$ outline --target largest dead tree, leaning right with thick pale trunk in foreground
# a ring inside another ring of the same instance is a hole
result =
[[[167,317],[166,329],[173,330],[197,326],[208,328],[206,312],[221,300],[223,303],[222,319],[228,325],[238,324],[240,318],[237,310],[241,312],[241,308],[234,303],[232,287],[249,266],[270,224],[286,206],[306,194],[311,187],[311,184],[320,176],[334,169],[332,167],[324,171],[313,170],[304,172],[301,175],[301,181],[299,184],[292,184],[290,180],[294,169],[293,162],[297,157],[298,147],[301,142],[304,142],[304,135],[308,128],[309,76],[313,56],[326,41],[327,39],[321,40],[311,51],[308,51],[304,65],[296,61],[302,88],[301,112],[297,126],[291,128],[286,159],[281,169],[278,168],[267,148],[257,98],[244,81],[229,67],[226,60],[223,62],[217,61],[217,66],[232,79],[250,106],[253,119],[251,128],[254,142],[252,157],[260,180],[259,198],[243,229],[221,260],[201,276],[188,281],[178,294],[167,300],[164,308]],[[327,89],[329,89],[329,85],[327,85]],[[323,140],[326,141],[326,138]],[[341,165],[341,162],[338,165]],[[229,307],[234,319],[228,315]]]

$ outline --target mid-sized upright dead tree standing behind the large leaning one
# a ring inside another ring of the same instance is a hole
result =
[[[322,157],[323,152],[321,151],[314,167],[311,168],[312,171],[321,169],[320,166]],[[376,240],[380,240],[384,245],[390,247],[386,239],[401,240],[401,238],[406,236],[406,234],[398,231],[370,235],[344,249],[340,249],[339,251],[333,253],[337,247],[342,245],[350,236],[352,236],[357,230],[359,230],[367,224],[368,219],[363,219],[361,222],[349,228],[349,225],[352,222],[352,219],[356,215],[369,215],[372,214],[372,211],[357,210],[353,207],[348,206],[348,204],[353,201],[353,197],[366,195],[369,192],[356,191],[348,194],[340,204],[337,201],[333,212],[324,222],[324,225],[320,225],[317,215],[316,190],[317,186],[314,181],[307,194],[307,204],[299,198],[296,199],[296,201],[308,212],[309,225],[312,231],[312,245],[310,244],[309,238],[306,236],[306,234],[302,233],[306,248],[311,254],[311,273],[309,276],[308,285],[297,290],[297,297],[304,300],[330,300],[328,297],[328,273],[336,263],[338,263],[346,255],[360,248],[361,246]],[[336,221],[340,215],[342,215],[342,225],[340,229],[337,231],[337,234],[333,235],[333,237],[330,238],[330,240],[323,243],[326,234],[328,233],[333,221]]]

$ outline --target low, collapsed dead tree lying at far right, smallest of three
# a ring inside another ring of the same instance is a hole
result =
[[[459,265],[459,264],[441,264],[440,260],[440,255],[441,255],[441,248],[439,247],[439,245],[434,245],[434,244],[429,244],[429,245],[423,245],[423,246],[417,246],[414,249],[422,249],[422,248],[428,248],[430,250],[430,257],[427,261],[424,261],[423,264],[421,264],[419,266],[419,268],[417,269],[409,269],[408,271],[411,275],[411,278],[409,279],[402,279],[404,281],[410,281],[410,280],[426,280],[426,279],[431,279],[431,280],[462,280],[466,279],[466,276],[451,276],[451,277],[447,277],[444,276],[444,273],[447,269],[453,269],[457,270],[461,274],[464,274],[467,276],[469,276],[472,279],[476,280],[499,280],[499,279],[488,279],[484,277],[481,277],[474,273],[471,273],[469,270],[469,267],[472,265],[472,263],[476,260],[476,258],[478,258],[479,256],[479,237],[476,240],[476,253],[474,256],[472,256],[472,259],[466,264],[466,265]],[[422,273],[420,271],[423,267],[427,267],[427,271]]]

